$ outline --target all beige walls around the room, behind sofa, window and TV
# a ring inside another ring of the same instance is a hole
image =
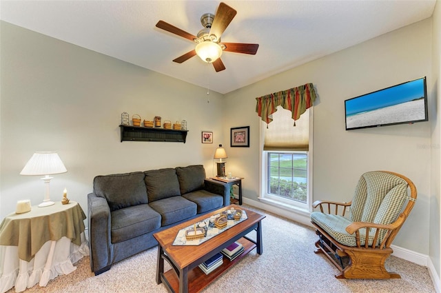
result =
[[[431,148],[440,143],[440,103],[435,101],[441,75],[439,23],[438,1],[433,23],[427,19],[225,97],[215,92],[207,97],[204,88],[1,22],[0,219],[14,211],[18,199],[41,201],[38,176],[19,175],[39,150],[59,152],[68,168],[54,175],[52,199],[60,199],[66,187],[68,197],[86,210],[86,195],[98,174],[203,163],[212,175],[214,148],[223,143],[227,170],[244,176],[244,196],[258,201],[260,122],[254,98],[312,82],[319,95],[314,200],[349,200],[358,176],[367,170],[409,176],[418,202],[395,244],[430,254],[439,275],[440,154]],[[431,26],[437,26],[433,32]],[[437,109],[430,112],[430,122],[345,131],[345,99],[422,76],[427,76],[430,105]],[[121,143],[121,112],[186,119],[187,143]],[[250,126],[250,148],[229,148],[229,128],[245,125]],[[203,130],[214,132],[214,144],[201,144]],[[432,158],[438,162],[429,167]]]

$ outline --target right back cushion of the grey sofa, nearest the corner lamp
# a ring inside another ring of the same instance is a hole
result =
[[[181,194],[204,188],[205,169],[203,165],[176,167]]]

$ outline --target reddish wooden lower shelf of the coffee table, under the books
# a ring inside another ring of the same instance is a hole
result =
[[[223,274],[225,270],[232,267],[235,263],[240,261],[248,252],[254,250],[256,244],[252,241],[245,239],[244,237],[239,239],[238,242],[243,245],[244,251],[242,254],[236,257],[236,259],[229,261],[226,257],[223,258],[223,264],[210,274],[205,274],[199,267],[194,267],[193,270],[188,272],[188,292],[196,293],[207,287],[209,283],[212,283],[218,276]],[[174,270],[168,270],[164,274],[161,274],[161,281],[164,285],[170,287],[172,292],[179,292],[179,278]]]

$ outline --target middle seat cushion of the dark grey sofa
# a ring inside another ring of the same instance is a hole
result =
[[[161,214],[161,225],[166,226],[196,215],[197,205],[182,196],[173,196],[149,203],[153,210]]]

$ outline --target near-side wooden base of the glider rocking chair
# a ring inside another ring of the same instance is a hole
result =
[[[376,250],[374,252],[363,249],[345,251],[351,261],[345,267],[337,279],[400,279],[396,273],[387,272],[384,261],[392,253],[392,250]]]

